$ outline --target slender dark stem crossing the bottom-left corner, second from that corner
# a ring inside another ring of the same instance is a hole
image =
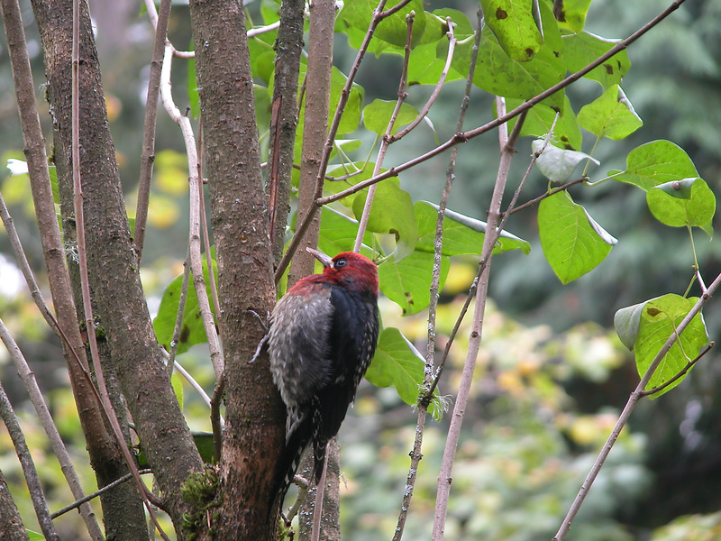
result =
[[[0,321],[0,328],[5,329],[5,324],[2,323],[2,321]],[[3,417],[5,426],[7,426],[7,432],[13,440],[15,453],[17,453],[17,457],[20,459],[20,464],[23,466],[23,475],[25,477],[25,482],[28,484],[32,507],[35,508],[35,516],[38,518],[42,535],[45,536],[45,539],[49,539],[50,541],[59,541],[60,537],[55,531],[55,527],[52,524],[52,518],[50,518],[48,504],[45,502],[45,494],[42,491],[38,471],[35,469],[35,464],[32,463],[30,449],[28,449],[28,445],[25,443],[23,429],[20,427],[17,417],[15,417],[13,406],[10,404],[10,400],[7,399],[7,395],[5,394],[5,389],[2,384],[0,384],[0,417]]]

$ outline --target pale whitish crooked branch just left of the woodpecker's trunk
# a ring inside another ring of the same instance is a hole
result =
[[[196,289],[196,297],[198,309],[203,321],[205,335],[208,340],[210,349],[210,361],[213,363],[215,376],[220,377],[223,372],[224,360],[223,351],[218,338],[218,332],[215,328],[215,320],[213,311],[210,308],[210,300],[208,299],[207,289],[205,289],[205,278],[203,276],[203,263],[200,245],[200,195],[201,183],[199,175],[199,162],[196,151],[196,139],[193,134],[193,127],[190,125],[190,119],[186,115],[182,115],[178,106],[173,101],[170,89],[170,69],[172,66],[171,58],[174,48],[167,43],[165,46],[165,60],[163,61],[162,74],[160,78],[160,96],[165,110],[170,118],[178,124],[180,132],[183,135],[183,141],[186,145],[187,170],[189,175],[190,188],[190,224],[188,225],[188,250],[190,254],[190,271],[193,272],[193,285]],[[208,269],[208,280],[214,280],[212,269]]]

